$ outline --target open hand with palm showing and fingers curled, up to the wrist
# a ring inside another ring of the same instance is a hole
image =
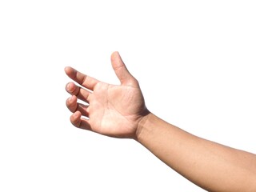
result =
[[[136,138],[139,122],[149,111],[138,81],[126,69],[118,52],[111,55],[111,62],[121,85],[100,82],[69,66],[65,68],[66,74],[81,85],[76,86],[74,82],[66,85],[67,92],[72,95],[66,100],[66,106],[74,113],[70,122],[98,134]],[[77,102],[78,99],[86,105]]]

